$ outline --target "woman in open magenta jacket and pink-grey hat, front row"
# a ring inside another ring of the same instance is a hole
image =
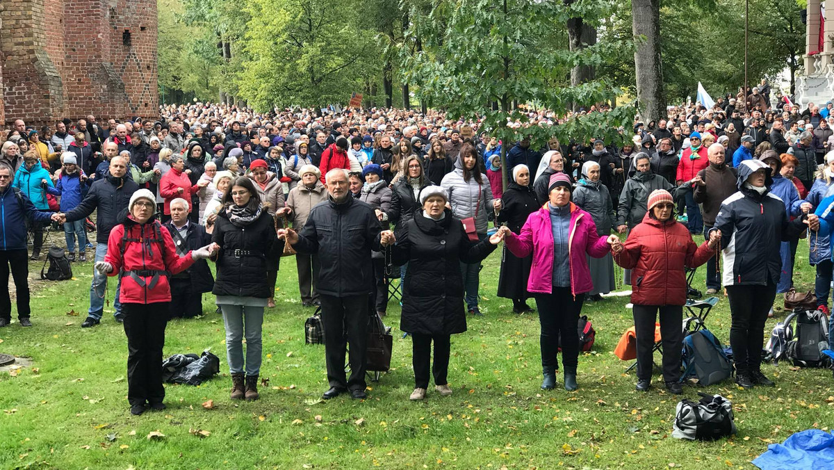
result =
[[[582,310],[585,292],[593,289],[585,253],[601,258],[610,251],[616,235],[596,235],[590,214],[570,202],[570,179],[567,174],[550,176],[550,200],[530,214],[515,235],[501,227],[507,248],[520,258],[533,254],[527,291],[535,297],[541,324],[541,388],[556,385],[559,366],[556,353],[561,336],[562,365],[565,367],[565,390],[576,390],[576,365],[579,360],[579,336],[576,323]]]

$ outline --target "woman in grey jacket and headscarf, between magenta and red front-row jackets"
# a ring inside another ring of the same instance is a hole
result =
[[[600,181],[600,164],[586,161],[582,165],[582,178],[576,183],[573,201],[594,219],[596,235],[610,235],[614,226],[614,205],[611,203],[608,188]],[[600,294],[615,290],[614,260],[610,253],[602,258],[592,258],[590,255],[586,258],[594,288],[586,294],[585,299],[601,301]]]

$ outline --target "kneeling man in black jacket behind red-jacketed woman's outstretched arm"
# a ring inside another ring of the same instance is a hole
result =
[[[188,201],[182,198],[171,201],[171,220],[163,226],[171,234],[177,255],[184,256],[189,250],[211,243],[211,235],[203,226],[188,221]],[[211,292],[214,277],[206,260],[197,260],[187,270],[172,275],[168,283],[171,286],[168,318],[193,318],[203,313],[203,292]]]

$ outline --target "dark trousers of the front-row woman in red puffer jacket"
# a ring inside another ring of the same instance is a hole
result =
[[[663,338],[663,380],[677,382],[681,378],[683,348],[683,306],[639,306],[632,309],[637,336],[637,378],[651,380],[654,364],[655,320],[660,312]]]

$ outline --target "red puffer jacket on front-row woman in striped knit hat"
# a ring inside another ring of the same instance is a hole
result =
[[[674,219],[661,223],[647,213],[614,256],[631,270],[631,302],[641,306],[686,304],[685,267],[706,263],[715,252],[706,241],[698,246],[685,225]]]

